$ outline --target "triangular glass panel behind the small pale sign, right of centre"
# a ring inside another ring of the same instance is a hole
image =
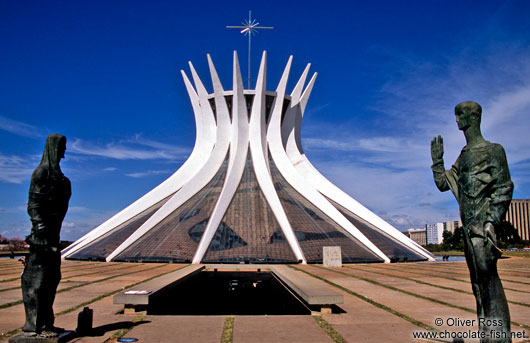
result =
[[[269,158],[269,163],[274,187],[308,263],[322,263],[324,246],[340,246],[345,263],[382,262],[381,258],[290,186],[272,158]]]

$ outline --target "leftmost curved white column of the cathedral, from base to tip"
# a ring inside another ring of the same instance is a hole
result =
[[[199,96],[193,89],[188,77],[181,70],[186,90],[190,97],[195,115],[196,137],[195,146],[188,159],[184,164],[168,179],[155,187],[150,192],[127,206],[116,215],[105,221],[103,224],[90,231],[74,244],[65,249],[62,258],[66,258],[76,253],[86,245],[95,241],[99,237],[105,235],[107,232],[125,223],[127,220],[133,218],[137,214],[147,210],[162,199],[167,198],[171,194],[177,192],[183,185],[185,185],[208,160],[215,142],[215,120],[212,113],[204,111],[200,107]],[[204,91],[206,93],[206,91]]]

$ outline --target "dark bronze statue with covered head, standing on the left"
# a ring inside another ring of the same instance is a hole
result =
[[[65,151],[66,137],[49,135],[42,160],[31,176],[28,214],[32,227],[26,237],[30,250],[22,274],[26,336],[56,337],[64,331],[53,325],[53,301],[61,280],[59,232],[71,195],[70,180],[59,166]]]

